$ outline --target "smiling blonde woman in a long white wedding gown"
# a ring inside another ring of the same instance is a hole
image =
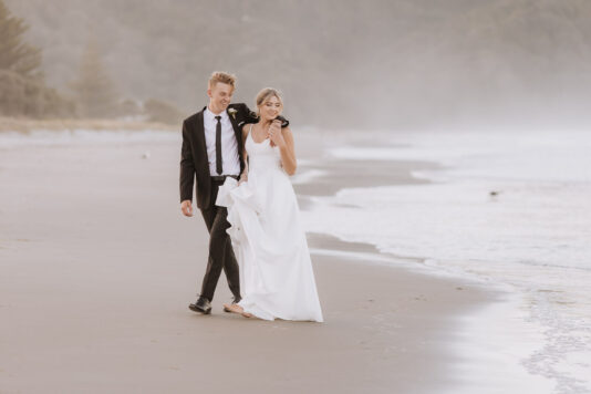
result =
[[[283,110],[274,89],[257,95],[260,121],[242,127],[240,182],[227,178],[216,205],[228,208],[227,230],[240,266],[242,300],[225,309],[265,320],[322,322],[314,272],[289,175],[296,173],[293,135],[273,121]]]

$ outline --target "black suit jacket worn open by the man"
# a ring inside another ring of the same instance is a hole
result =
[[[195,180],[195,194],[197,196],[197,207],[208,209],[216,201],[211,201],[211,176],[209,172],[209,160],[207,157],[207,146],[205,143],[204,107],[198,113],[187,117],[183,122],[183,147],[180,149],[180,201],[193,200],[193,185]],[[242,125],[257,123],[257,114],[251,112],[243,103],[228,105],[236,142],[238,143],[238,156],[240,160],[240,174],[245,169],[245,158],[242,157]],[[289,122],[281,118],[282,127]]]

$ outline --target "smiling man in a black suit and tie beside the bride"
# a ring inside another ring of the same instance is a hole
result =
[[[226,229],[230,227],[227,209],[216,206],[218,188],[227,177],[238,179],[245,169],[242,133],[247,123],[257,123],[258,116],[246,104],[230,104],[236,76],[214,72],[209,79],[207,95],[209,104],[183,122],[183,147],[180,151],[180,210],[193,216],[193,185],[196,178],[197,208],[201,211],[209,231],[209,257],[201,293],[189,309],[211,313],[211,300],[221,270],[234,294],[232,303],[240,301],[238,263]],[[289,122],[282,120],[282,127]],[[226,310],[226,309],[225,309]]]

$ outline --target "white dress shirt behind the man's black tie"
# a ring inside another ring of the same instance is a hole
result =
[[[238,142],[234,134],[230,116],[226,111],[218,114],[221,116],[221,166],[220,175],[240,175],[240,159],[238,158]],[[207,146],[207,159],[209,162],[209,174],[218,176],[216,170],[216,114],[207,107],[204,111],[205,144]]]

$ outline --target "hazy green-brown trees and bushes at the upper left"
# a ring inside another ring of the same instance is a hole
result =
[[[151,98],[144,103],[122,100],[101,59],[98,45],[90,40],[80,61],[70,92],[60,92],[45,82],[42,50],[24,40],[29,25],[11,14],[0,0],[0,115],[30,118],[113,118],[176,123],[180,112]]]

